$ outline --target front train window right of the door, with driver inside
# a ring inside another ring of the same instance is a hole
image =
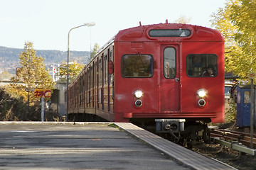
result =
[[[186,58],[188,77],[216,77],[218,57],[214,54],[191,54]]]

